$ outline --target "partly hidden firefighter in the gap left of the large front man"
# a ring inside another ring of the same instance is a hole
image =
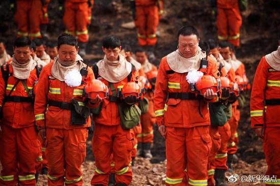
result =
[[[154,73],[157,73],[157,67],[151,64],[148,60],[147,53],[142,49],[135,51],[136,60],[142,65],[142,69],[149,79],[152,79]],[[155,75],[156,77],[156,75]],[[155,124],[155,112],[154,112],[154,92],[149,89],[145,98],[149,100],[148,112],[141,115],[142,133],[137,135],[138,140],[138,154],[144,158],[152,158],[151,145],[153,144],[154,131],[153,126]]]

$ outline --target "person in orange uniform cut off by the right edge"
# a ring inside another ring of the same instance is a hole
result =
[[[280,36],[280,35],[279,35]],[[268,165],[266,185],[280,184],[280,37],[278,49],[262,57],[253,82],[250,101],[251,126],[263,139]]]

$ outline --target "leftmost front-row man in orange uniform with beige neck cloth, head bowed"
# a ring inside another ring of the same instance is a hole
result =
[[[1,66],[0,73],[2,186],[36,185],[35,167],[42,161],[34,127],[34,89],[38,77],[37,63],[31,57],[31,40],[16,39],[12,63]]]

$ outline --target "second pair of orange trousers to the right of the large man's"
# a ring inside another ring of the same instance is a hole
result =
[[[229,122],[224,126],[218,128],[219,134],[221,135],[221,145],[215,156],[215,168],[216,169],[228,169],[227,159],[228,159],[228,149],[227,143],[231,137],[231,127]]]

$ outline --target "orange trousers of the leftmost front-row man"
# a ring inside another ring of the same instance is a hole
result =
[[[36,164],[42,160],[40,142],[35,127],[15,129],[2,125],[0,185],[36,185]]]

